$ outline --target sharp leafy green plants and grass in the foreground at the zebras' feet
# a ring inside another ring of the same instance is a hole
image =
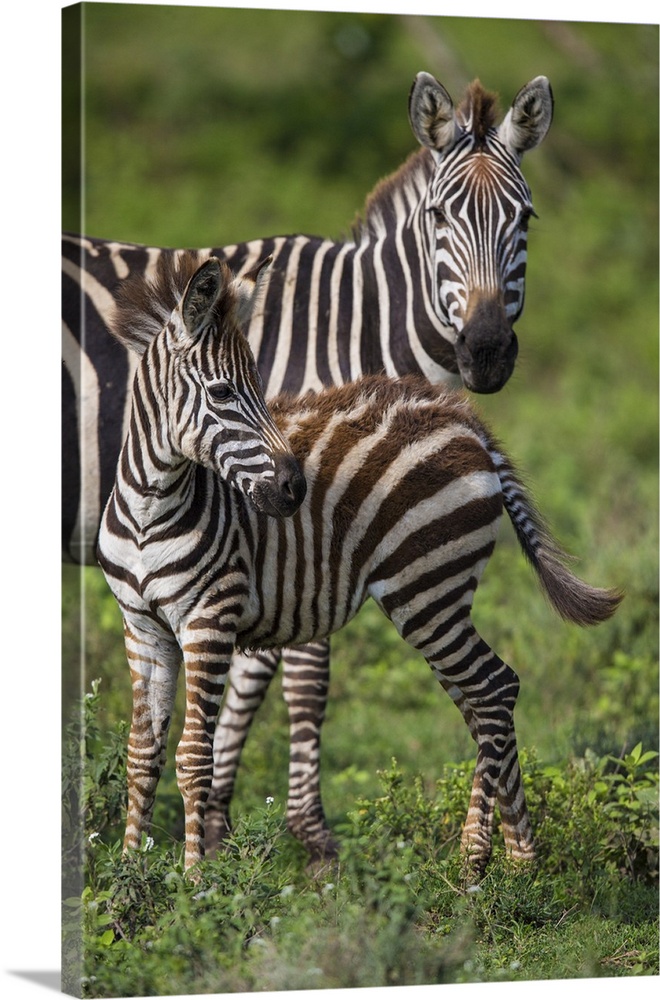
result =
[[[84,997],[658,971],[653,751],[568,767],[525,755],[539,863],[516,869],[496,829],[478,886],[456,853],[471,769],[447,766],[426,790],[395,761],[340,825],[337,865],[306,872],[282,806],[263,800],[191,881],[161,830],[122,855],[125,729],[99,750],[101,704],[99,690],[85,702],[85,888],[65,901],[65,988],[79,988],[81,939]],[[75,779],[76,763],[65,775]]]

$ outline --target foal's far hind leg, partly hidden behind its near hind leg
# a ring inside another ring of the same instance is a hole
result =
[[[444,679],[441,679],[440,683],[461,712],[472,738],[478,742],[476,719],[462,691]],[[503,754],[502,771],[497,788],[497,804],[500,810],[507,854],[517,862],[533,861],[535,858],[534,834],[522,786],[513,719]]]

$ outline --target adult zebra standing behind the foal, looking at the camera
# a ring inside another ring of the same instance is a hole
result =
[[[341,384],[360,374],[420,373],[499,390],[516,359],[513,324],[524,301],[533,214],[523,154],[552,121],[548,80],[536,77],[496,125],[496,98],[478,81],[456,109],[428,73],[417,75],[409,118],[421,149],[368,197],[353,238],[281,236],[205,251],[244,272],[273,258],[248,337],[266,394]],[[63,547],[92,562],[101,511],[125,434],[129,355],[108,334],[129,275],[182,251],[64,238]],[[80,441],[80,448],[78,442]],[[289,826],[312,855],[332,854],[318,789],[327,644],[294,650],[285,697],[292,719]],[[210,807],[226,828],[233,772],[278,658],[241,658],[233,672]]]

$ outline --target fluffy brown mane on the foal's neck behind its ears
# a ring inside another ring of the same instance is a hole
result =
[[[134,274],[122,284],[110,323],[113,336],[142,354],[160,333],[186,285],[208,253],[180,250],[160,254],[152,275]]]

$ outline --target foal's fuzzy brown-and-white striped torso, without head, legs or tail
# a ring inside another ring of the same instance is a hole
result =
[[[396,594],[412,581],[419,593],[405,601],[407,620],[427,606],[418,577],[443,579],[457,556],[467,556],[465,580],[474,589],[502,497],[479,425],[460,397],[376,376],[300,401],[280,397],[271,410],[304,470],[307,500],[298,514],[269,518],[222,476],[194,469],[185,484],[185,505],[199,519],[194,531],[190,518],[179,518],[184,500],[177,496],[166,531],[161,513],[157,537],[145,545],[132,522],[118,533],[118,506],[136,502],[122,475],[100,549],[106,567],[116,557],[131,568],[113,585],[123,608],[167,608],[179,635],[208,601],[212,576],[219,595],[231,586],[235,645],[264,649],[326,638],[368,596],[397,619],[394,608],[404,602]],[[215,632],[210,621],[198,630],[199,643],[210,644]]]

